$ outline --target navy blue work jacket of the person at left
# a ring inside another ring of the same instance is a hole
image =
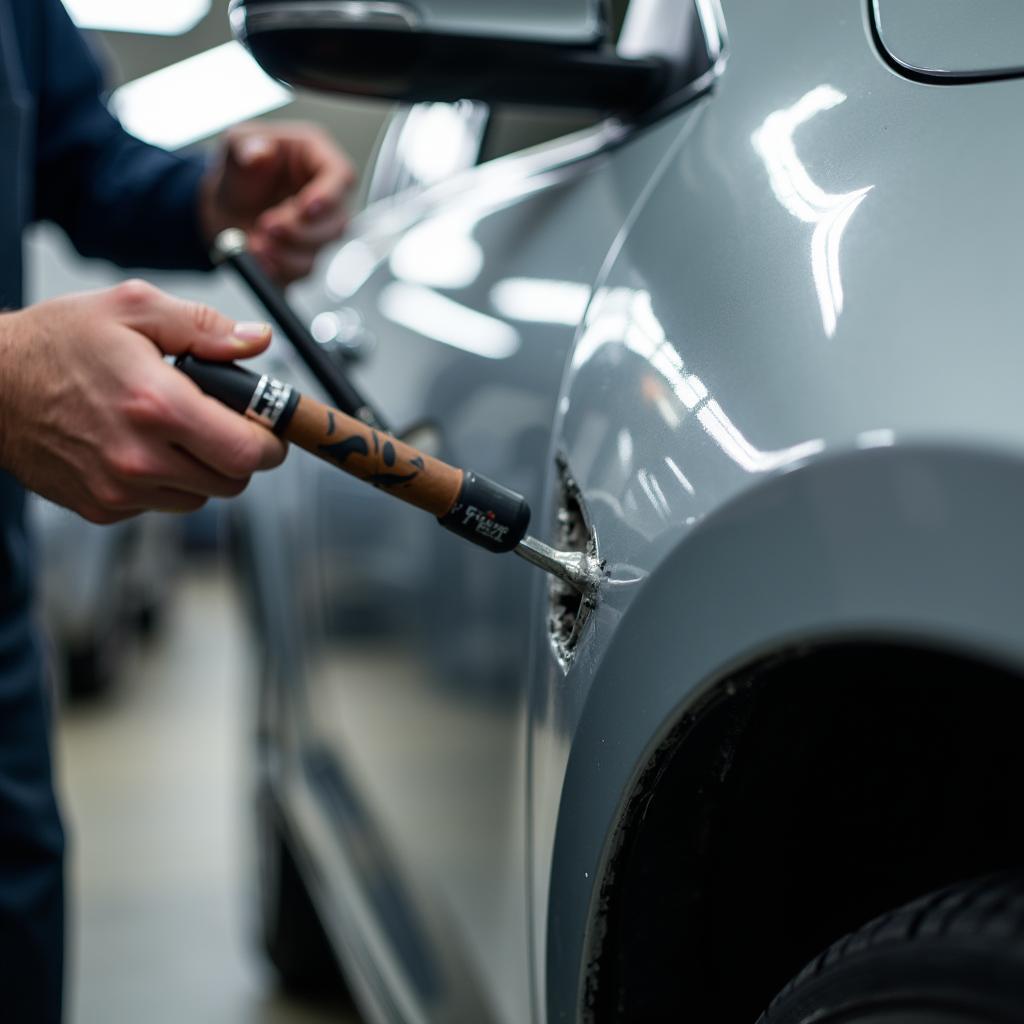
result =
[[[0,0],[0,309],[22,304],[22,232],[33,220],[55,221],[80,253],[122,266],[208,266],[202,162],[128,135],[101,88],[60,0]],[[0,402],[2,388],[0,375]],[[0,472],[0,676],[32,646],[24,505]]]

